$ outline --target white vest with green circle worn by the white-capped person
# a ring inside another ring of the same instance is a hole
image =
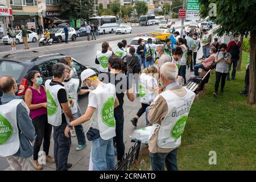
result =
[[[108,140],[115,137],[115,85],[110,83],[98,85],[95,90],[90,92],[89,100],[92,94],[96,94],[98,107],[93,113],[91,122],[98,122],[102,139]]]

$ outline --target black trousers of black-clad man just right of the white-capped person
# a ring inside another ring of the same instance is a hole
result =
[[[118,109],[114,111],[115,118],[115,134],[114,144],[117,147],[117,160],[122,160],[125,154],[125,143],[123,143],[123,109]]]

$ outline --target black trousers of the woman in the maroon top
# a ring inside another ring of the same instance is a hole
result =
[[[33,158],[34,160],[38,160],[38,152],[40,151],[43,139],[43,150],[46,152],[46,155],[49,154],[52,125],[48,123],[47,114],[40,115],[39,117],[32,119],[32,124],[35,127],[36,132]]]

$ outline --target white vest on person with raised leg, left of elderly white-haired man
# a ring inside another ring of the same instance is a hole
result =
[[[155,99],[155,92],[148,89],[148,84],[152,79],[155,82],[154,86],[158,86],[156,79],[146,73],[142,73],[139,77],[139,96],[141,97],[141,102],[144,104],[149,104],[150,101]]]

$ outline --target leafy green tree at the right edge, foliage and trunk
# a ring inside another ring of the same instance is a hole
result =
[[[249,83],[249,104],[256,101],[256,2],[251,0],[199,0],[201,3],[200,16],[209,16],[216,24],[220,25],[214,33],[219,36],[224,33],[235,33],[241,35],[250,34],[250,83]],[[216,15],[214,15],[214,4]],[[212,6],[213,5],[213,6]]]

